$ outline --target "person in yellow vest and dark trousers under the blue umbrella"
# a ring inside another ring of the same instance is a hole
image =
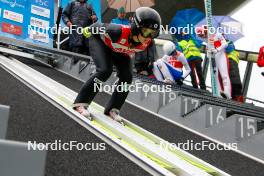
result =
[[[195,39],[195,37],[181,33],[181,40],[178,42],[181,51],[184,56],[187,58],[187,61],[191,67],[191,80],[194,88],[198,88],[200,85],[200,89],[206,90],[206,85],[202,72],[202,55],[199,48],[202,46],[202,42]],[[197,75],[197,76],[196,76]],[[197,80],[197,77],[199,80]]]

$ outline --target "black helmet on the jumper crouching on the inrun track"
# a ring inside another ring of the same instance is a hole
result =
[[[131,24],[134,34],[141,33],[143,37],[150,36],[151,38],[155,38],[159,35],[160,25],[161,18],[159,13],[149,7],[137,8]],[[150,32],[144,34],[143,28],[150,29]]]

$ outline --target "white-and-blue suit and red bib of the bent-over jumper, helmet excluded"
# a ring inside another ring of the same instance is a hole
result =
[[[183,72],[182,68],[185,67],[186,71]],[[157,80],[165,81],[170,80],[176,82],[179,79],[185,79],[191,72],[189,64],[180,52],[174,56],[163,56],[153,64],[153,73]]]

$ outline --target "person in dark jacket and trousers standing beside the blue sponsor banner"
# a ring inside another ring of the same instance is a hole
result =
[[[84,28],[97,20],[94,10],[86,4],[86,1],[75,0],[66,6],[62,13],[62,20],[68,27],[72,29]],[[88,40],[85,40],[82,34],[78,34],[77,30],[71,30],[69,37],[69,48],[72,52],[83,54],[85,51],[89,51]],[[74,58],[74,63],[77,62],[78,60]]]

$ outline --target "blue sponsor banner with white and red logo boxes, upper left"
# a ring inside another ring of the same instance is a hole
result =
[[[53,47],[53,26],[54,0],[0,0],[0,36]]]

